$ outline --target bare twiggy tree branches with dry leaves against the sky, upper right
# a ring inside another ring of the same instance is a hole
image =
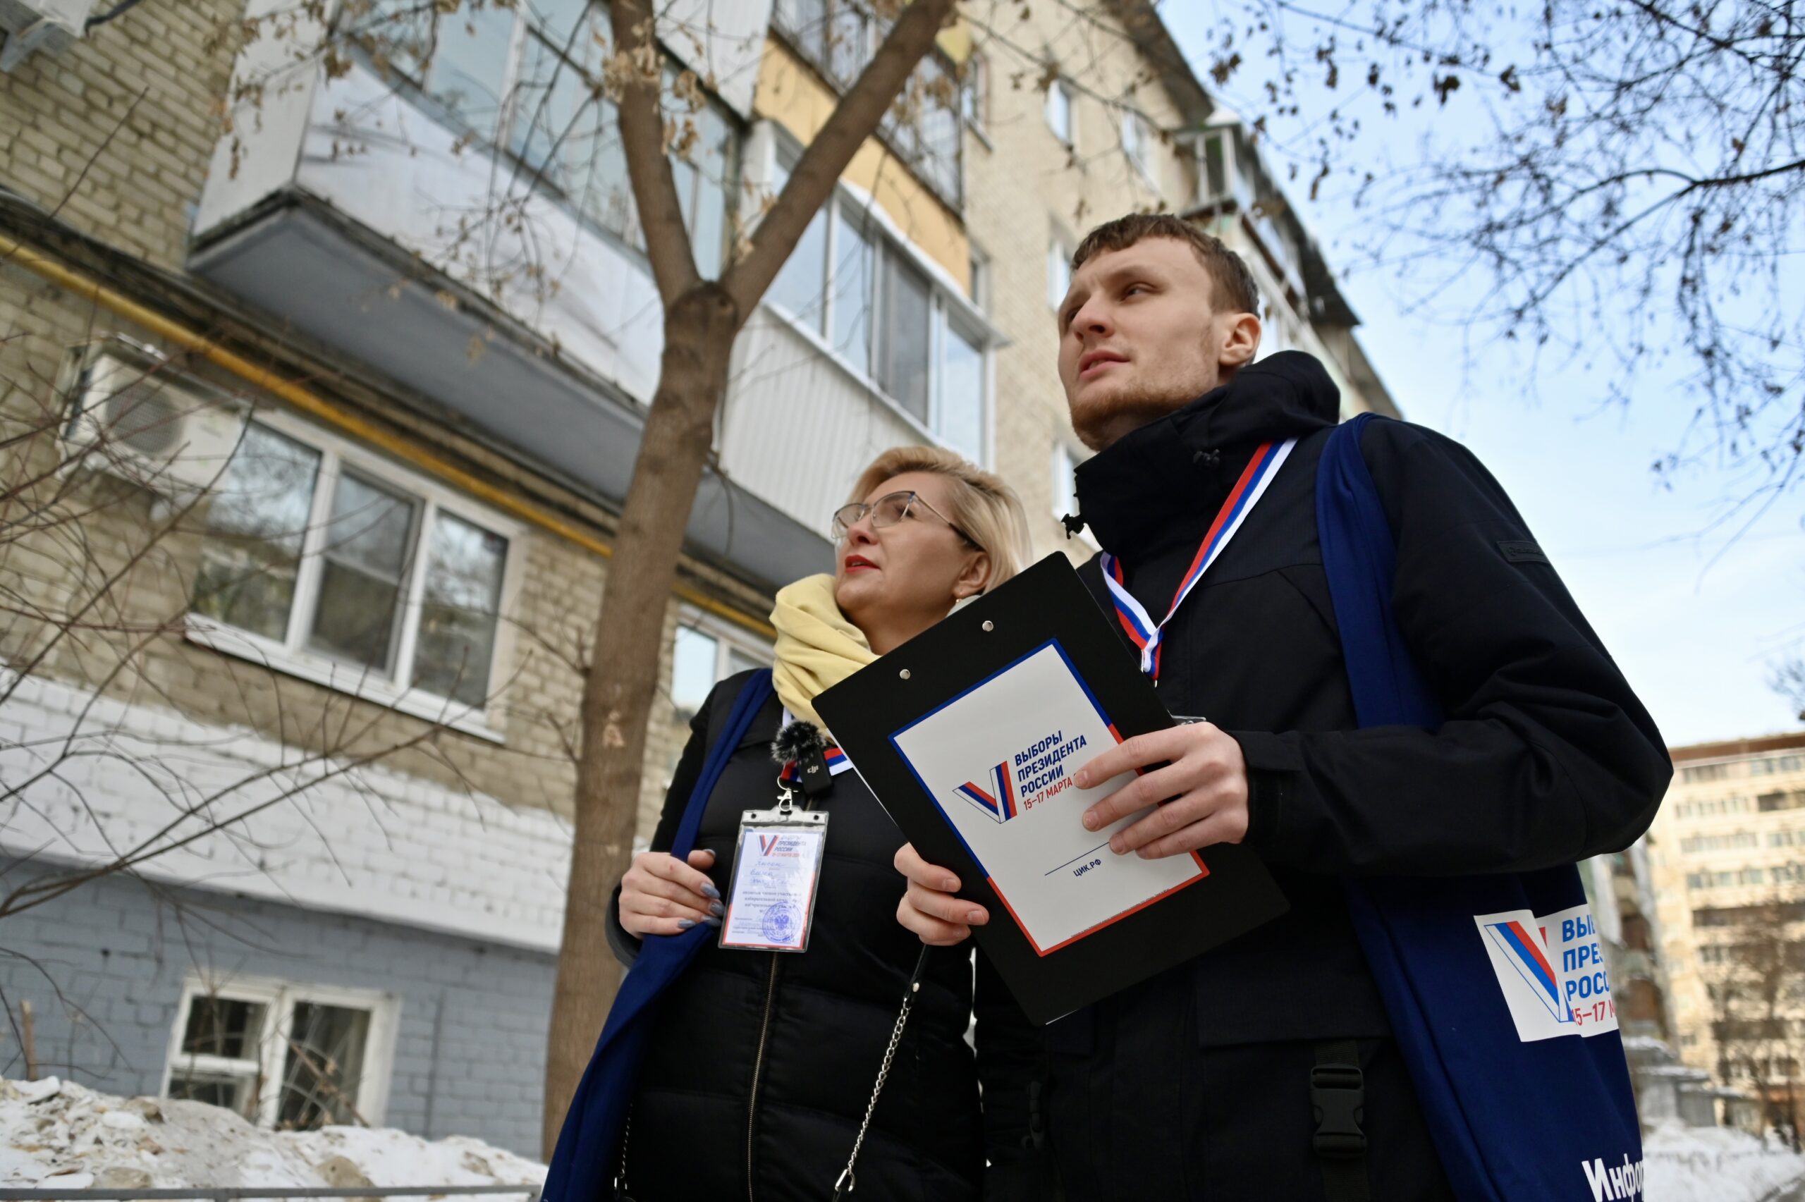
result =
[[[1800,478],[1805,18],[1791,4],[1245,0],[1209,72],[1307,195],[1368,213],[1451,343],[1504,339],[1630,402],[1679,383],[1680,446],[1751,502]],[[1426,128],[1402,159],[1384,130]]]

